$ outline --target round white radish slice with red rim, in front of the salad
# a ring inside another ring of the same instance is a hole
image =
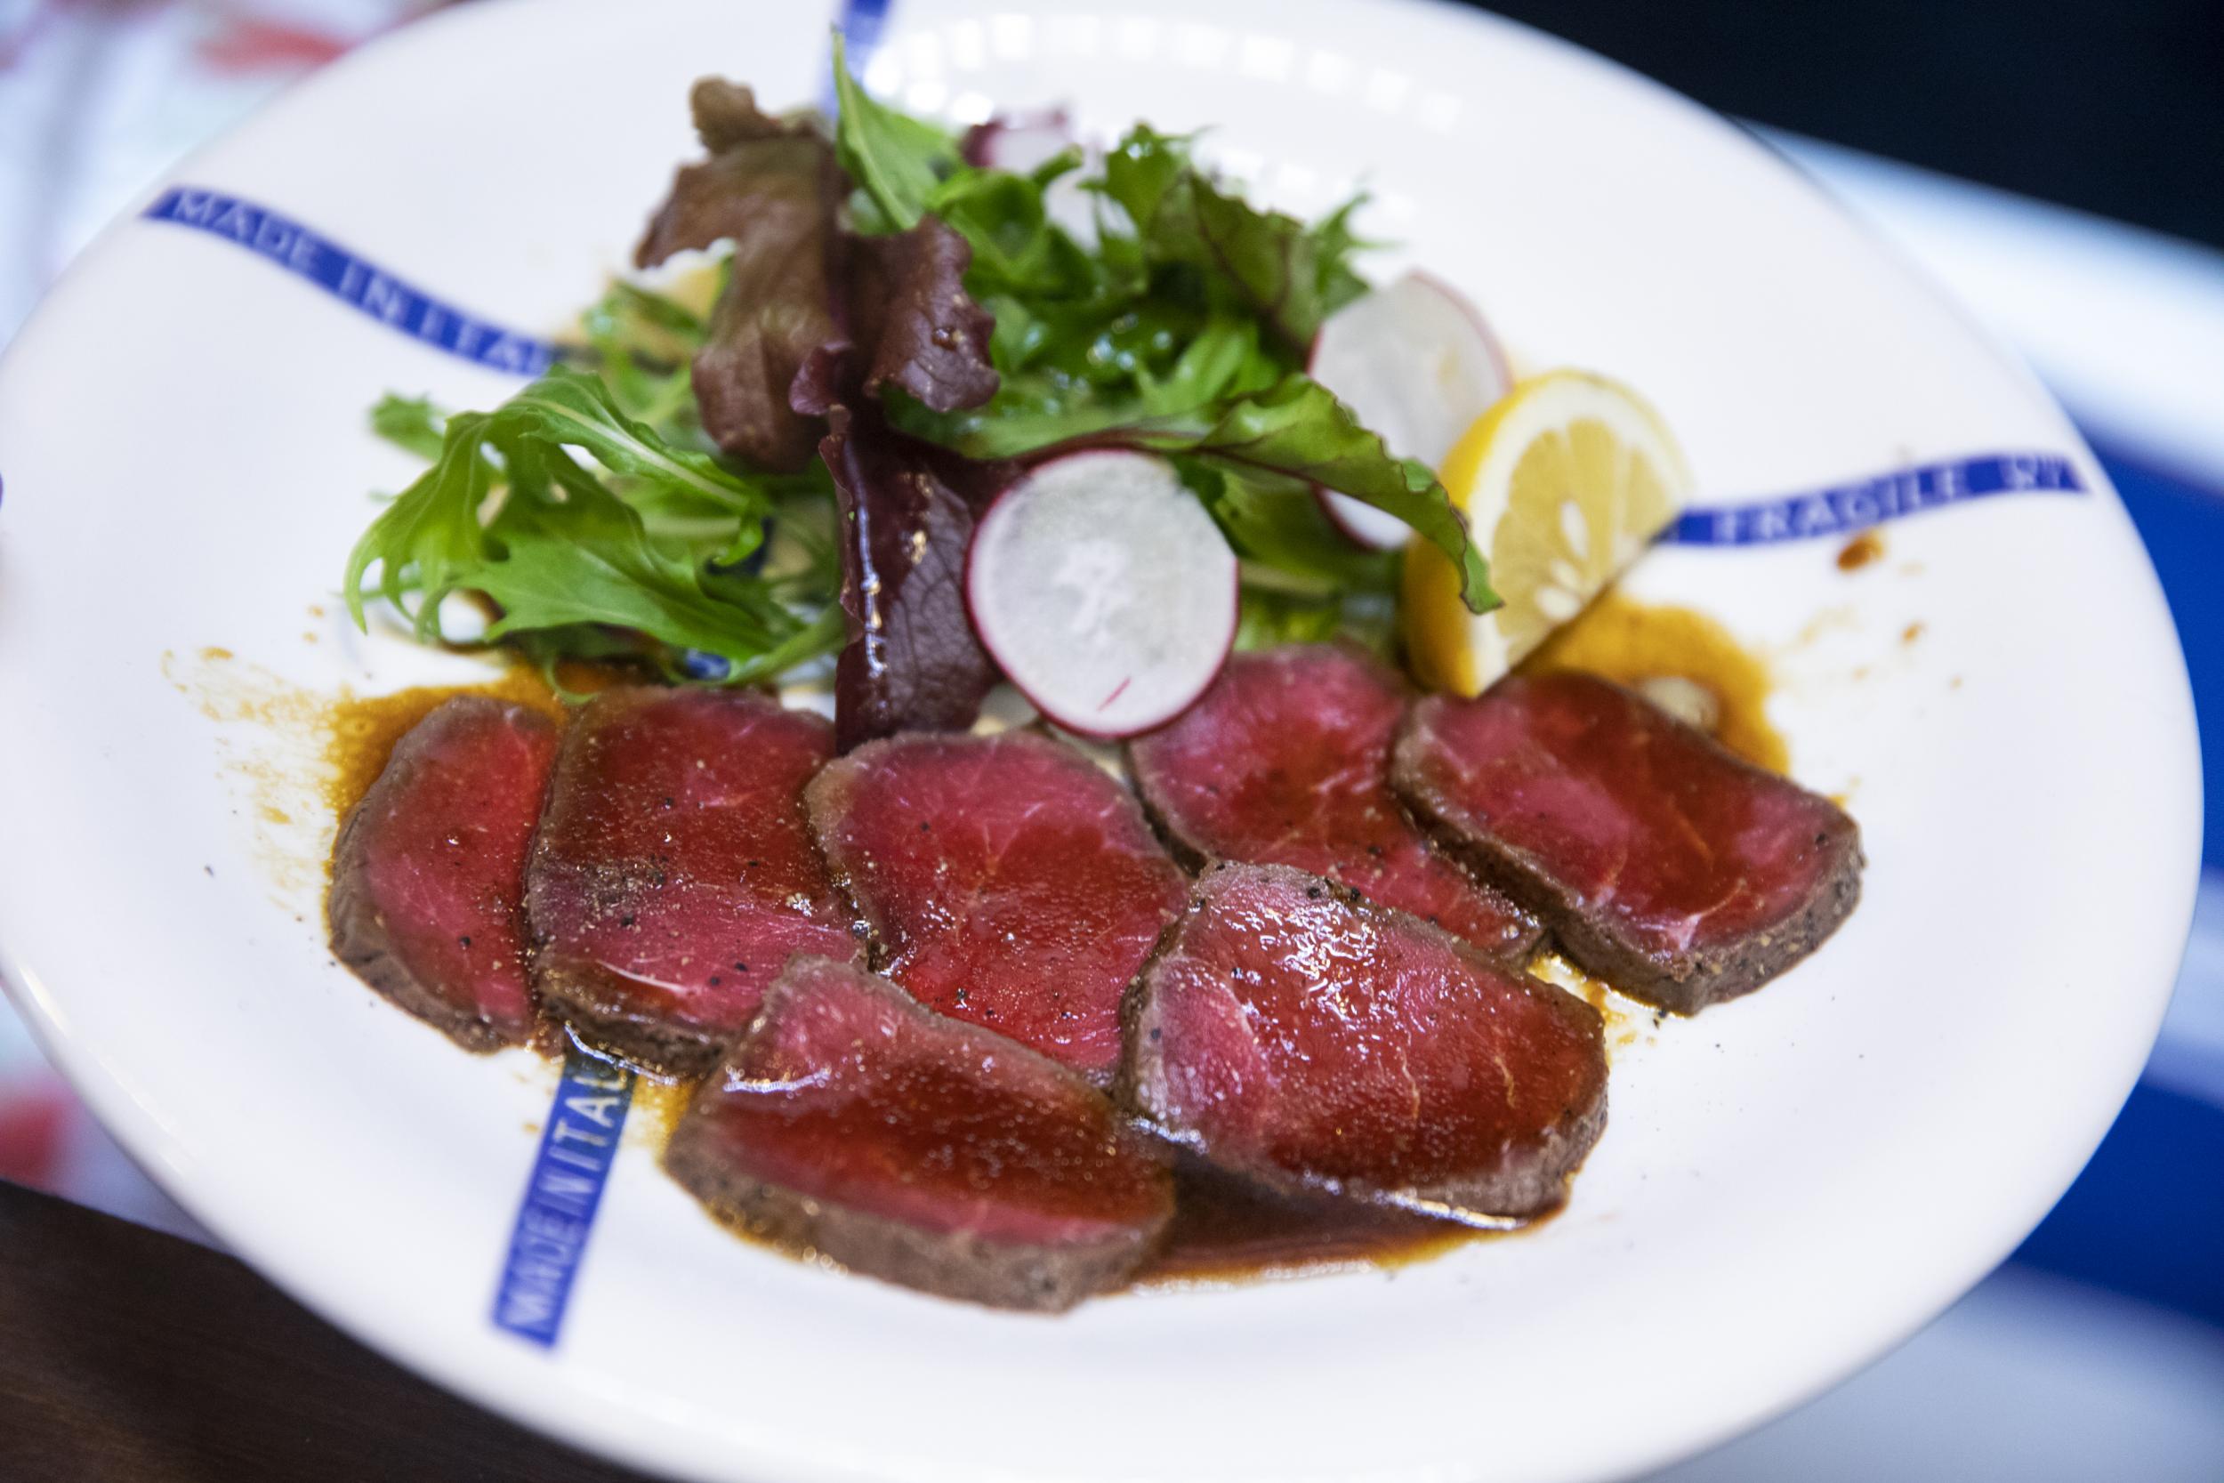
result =
[[[1174,465],[1094,449],[996,496],[965,600],[1039,711],[1083,736],[1134,736],[1185,711],[1228,660],[1237,558]]]

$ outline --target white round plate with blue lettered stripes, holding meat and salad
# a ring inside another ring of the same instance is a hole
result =
[[[1597,1479],[1844,1376],[2077,1172],[2162,1014],[2200,780],[2155,580],[2062,414],[1753,140],[1590,56],[1421,4],[1199,16],[903,4],[872,80],[954,116],[1221,122],[1217,158],[1294,209],[1368,180],[1403,242],[1381,271],[1426,262],[1532,365],[1644,387],[1710,500],[2002,451],[2088,487],[1899,520],[1853,576],[1804,540],[1664,549],[1635,580],[1775,651],[1795,772],[1866,834],[1850,925],[1621,1049],[1572,1205],[1521,1238],[1045,1321],[729,1241],[636,1143],[563,1343],[525,1345],[487,1312],[549,1072],[463,1056],[331,965],[329,820],[287,800],[314,760],[287,696],[469,674],[334,616],[363,491],[407,476],[365,405],[514,378],[129,220],[0,369],[0,967],[107,1125],[274,1281],[687,1476]],[[805,102],[823,56],[812,7],[474,4],[180,178],[554,331],[689,153],[689,78]]]

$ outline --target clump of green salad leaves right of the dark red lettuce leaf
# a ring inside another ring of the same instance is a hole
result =
[[[1321,322],[1366,291],[1350,267],[1363,247],[1359,200],[1310,227],[1261,211],[1214,185],[1188,138],[1136,125],[1094,182],[1125,229],[1092,256],[1043,211],[1043,182],[1068,160],[1034,176],[965,167],[947,138],[901,133],[890,122],[901,113],[847,71],[836,78],[843,162],[892,220],[934,213],[965,236],[965,289],[996,325],[996,394],[932,411],[883,389],[894,427],[983,460],[1136,447],[1221,467],[1241,494],[1208,496],[1208,507],[1230,540],[1317,591],[1359,580],[1350,543],[1310,500],[1321,485],[1406,520],[1452,558],[1475,611],[1497,605],[1488,563],[1437,478],[1392,458],[1301,374]]]

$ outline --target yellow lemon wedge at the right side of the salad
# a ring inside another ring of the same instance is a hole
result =
[[[1406,547],[1406,647],[1423,685],[1481,694],[1606,589],[1684,505],[1690,469],[1659,414],[1606,376],[1517,382],[1443,458],[1443,487],[1506,605],[1470,614],[1437,547]]]

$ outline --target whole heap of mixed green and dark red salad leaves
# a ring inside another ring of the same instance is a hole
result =
[[[707,158],[636,260],[729,245],[707,313],[616,282],[567,362],[494,411],[374,409],[429,467],[349,558],[358,625],[383,600],[427,643],[674,683],[841,654],[845,731],[963,723],[994,680],[963,631],[974,518],[1016,465],[1074,449],[1172,462],[1239,560],[1243,645],[1388,643],[1399,558],[1341,534],[1321,489],[1441,549],[1468,609],[1497,603],[1437,476],[1305,374],[1368,291],[1357,200],[1263,211],[1148,125],[1096,162],[996,169],[867,96],[838,42],[834,76],[832,125],[696,84]]]

